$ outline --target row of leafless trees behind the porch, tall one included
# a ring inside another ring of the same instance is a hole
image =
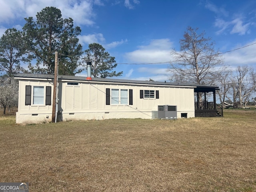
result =
[[[170,81],[218,86],[222,106],[229,103],[242,108],[250,100],[255,102],[254,68],[243,64],[235,69],[225,66],[222,53],[214,48],[212,38],[205,35],[204,31],[199,33],[198,28],[188,26],[180,39],[180,50],[171,51]]]

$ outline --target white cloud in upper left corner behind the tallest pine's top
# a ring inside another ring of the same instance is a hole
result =
[[[63,18],[71,17],[76,25],[94,24],[92,18],[95,16],[92,10],[93,2],[91,0],[0,0],[0,23],[10,22],[16,18],[36,17],[47,6],[59,8]],[[97,0],[94,4],[99,5]]]

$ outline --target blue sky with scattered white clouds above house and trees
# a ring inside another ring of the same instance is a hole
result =
[[[233,69],[256,63],[256,0],[0,0],[0,36],[21,30],[24,18],[54,6],[80,26],[83,49],[102,44],[116,58],[118,78],[168,81],[170,50],[179,50],[186,28],[198,27]],[[158,64],[148,64],[158,63]],[[86,71],[79,74],[86,76]]]

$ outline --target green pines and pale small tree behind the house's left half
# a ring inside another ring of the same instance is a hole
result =
[[[46,7],[32,17],[24,18],[26,24],[22,31],[7,29],[0,39],[0,104],[4,108],[15,106],[18,102],[17,73],[53,74],[55,52],[59,54],[60,75],[75,75],[86,69],[86,62],[92,62],[93,77],[106,78],[121,76],[116,72],[115,57],[110,56],[98,43],[89,44],[82,51],[78,36],[81,29],[74,26],[72,18],[62,18],[61,11]],[[24,64],[28,64],[24,67]],[[7,88],[8,87],[8,88]],[[14,89],[15,87],[15,89]],[[15,92],[16,91],[16,92]],[[16,102],[10,95],[16,95]]]

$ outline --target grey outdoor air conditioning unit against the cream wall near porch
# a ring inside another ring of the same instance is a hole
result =
[[[158,105],[159,119],[177,119],[177,106]]]

